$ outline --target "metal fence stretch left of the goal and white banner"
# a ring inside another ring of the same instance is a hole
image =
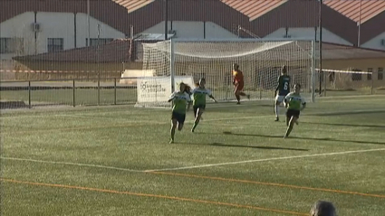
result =
[[[1,81],[2,108],[134,104],[136,78]],[[132,84],[130,84],[130,81]]]

